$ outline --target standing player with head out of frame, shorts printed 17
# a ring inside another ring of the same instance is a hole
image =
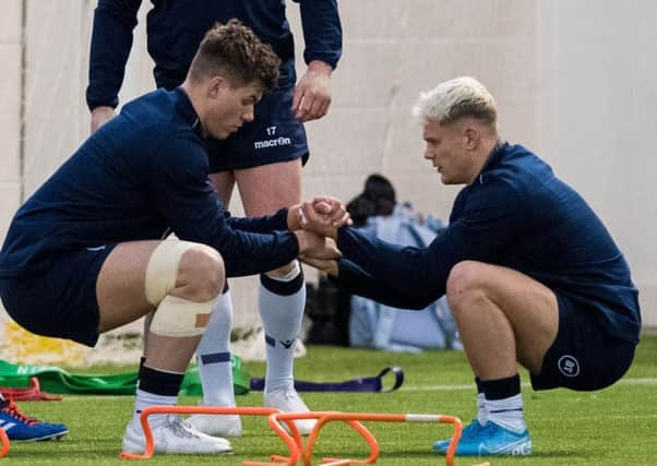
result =
[[[114,117],[132,31],[141,0],[99,0],[94,14],[86,99],[92,132]],[[301,199],[301,166],[309,156],[303,122],[322,118],[331,105],[331,74],[342,53],[336,0],[300,1],[308,68],[296,81],[294,40],[285,1],[153,0],[147,16],[148,53],[155,82],[171,89],[182,83],[205,32],[215,23],[239,19],[282,60],[274,92],[255,106],[255,119],[226,141],[208,143],[214,189],[226,206],[237,182],[246,215],[262,216]],[[260,315],[266,343],[264,404],[284,411],[308,407],[294,389],[294,353],[306,304],[303,275],[297,261],[261,275]],[[203,403],[235,406],[229,358],[232,303],[226,288],[198,350]],[[237,416],[194,416],[190,421],[216,435],[241,434]],[[300,420],[308,434],[313,420]]]

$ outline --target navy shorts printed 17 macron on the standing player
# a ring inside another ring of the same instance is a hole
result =
[[[303,123],[291,112],[294,88],[276,88],[255,105],[255,118],[224,141],[207,143],[210,172],[253,168],[261,165],[308,160]]]

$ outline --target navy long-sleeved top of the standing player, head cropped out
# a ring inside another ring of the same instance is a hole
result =
[[[336,0],[296,0],[300,3],[307,63],[321,60],[332,68],[342,53],[342,25]],[[89,57],[89,110],[116,107],[126,62],[132,47],[142,0],[99,0],[94,12]],[[295,84],[295,45],[285,14],[285,0],[152,0],[146,34],[148,55],[155,61],[155,83],[172,89],[182,84],[203,36],[216,22],[232,17],[280,57],[279,85]]]

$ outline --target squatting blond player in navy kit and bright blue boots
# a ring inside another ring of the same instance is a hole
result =
[[[538,156],[501,139],[481,83],[441,83],[421,94],[415,113],[425,158],[444,184],[466,184],[447,228],[427,248],[341,228],[342,259],[314,265],[390,306],[421,309],[446,292],[478,390],[477,418],[456,454],[529,455],[518,365],[534,390],[613,384],[638,343],[638,291],[586,201]]]

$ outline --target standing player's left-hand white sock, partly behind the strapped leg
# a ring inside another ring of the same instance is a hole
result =
[[[196,348],[196,363],[203,386],[203,404],[235,406],[232,368],[230,366],[230,327],[232,300],[226,291],[212,311],[201,343]]]

